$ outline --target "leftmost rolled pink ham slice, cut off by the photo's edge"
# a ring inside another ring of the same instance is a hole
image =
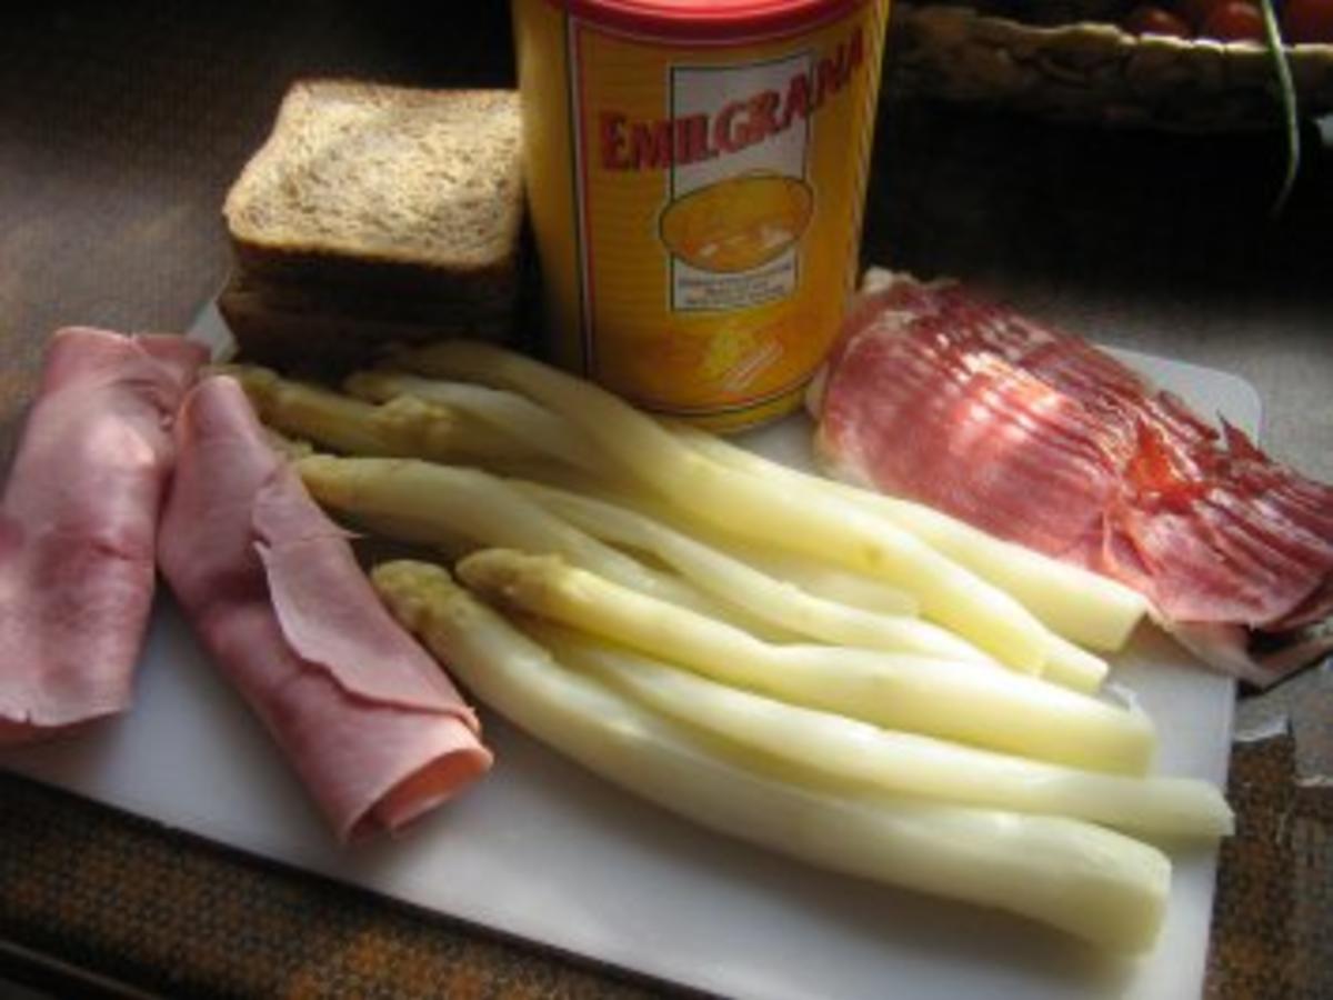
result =
[[[181,337],[53,335],[0,500],[0,743],[123,711],[153,599]]]

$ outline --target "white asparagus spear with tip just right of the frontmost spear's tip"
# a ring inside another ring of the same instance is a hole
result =
[[[793,704],[1098,771],[1144,773],[1153,755],[1141,711],[993,665],[773,645],[556,556],[488,549],[457,573],[488,600]]]

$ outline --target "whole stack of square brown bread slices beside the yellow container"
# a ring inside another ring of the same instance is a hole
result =
[[[305,80],[223,213],[243,356],[337,369],[396,343],[508,339],[523,177],[512,91]]]

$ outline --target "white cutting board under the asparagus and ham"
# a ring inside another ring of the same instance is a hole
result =
[[[216,335],[215,313],[196,335]],[[1241,380],[1128,356],[1200,412],[1254,431]],[[748,439],[808,461],[793,417]],[[1148,629],[1145,629],[1148,632]],[[1161,636],[1116,679],[1157,721],[1160,771],[1225,781],[1234,689]],[[133,711],[4,765],[169,827],[592,959],[742,997],[1041,1000],[1201,992],[1216,852],[1174,855],[1157,951],[1098,967],[1053,932],[861,884],[696,829],[603,784],[484,713],[492,775],[399,841],[340,849],[259,723],[165,592]]]

